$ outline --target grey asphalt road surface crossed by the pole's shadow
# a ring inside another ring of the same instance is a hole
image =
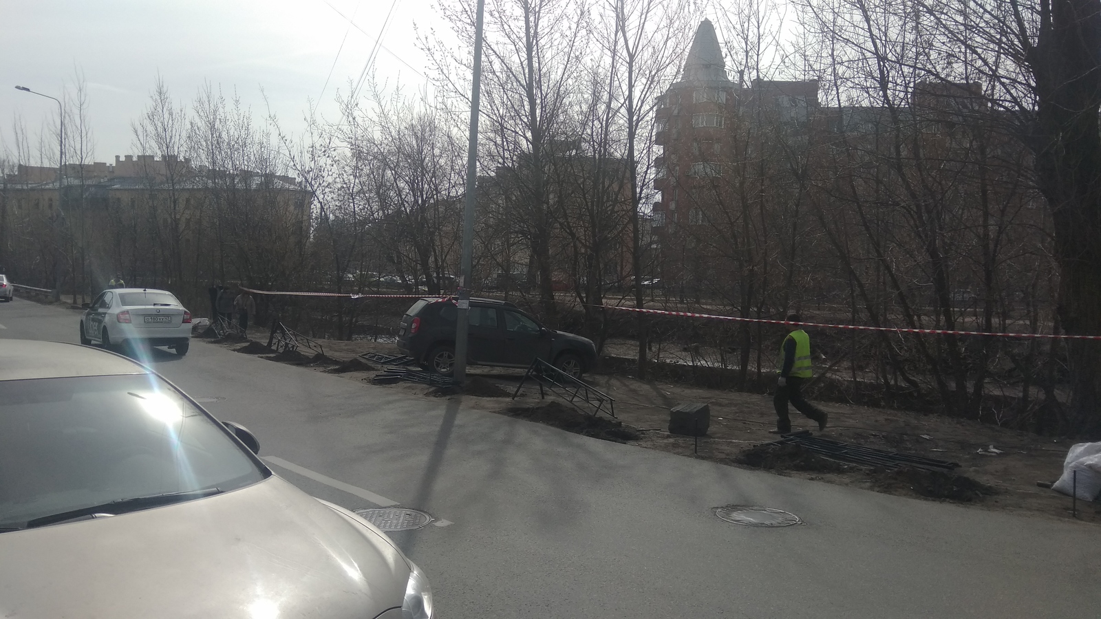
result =
[[[0,337],[76,341],[77,317],[15,300],[0,305]],[[442,618],[1066,618],[1101,608],[1092,525],[741,470],[200,341],[186,358],[161,351],[153,362],[215,415],[247,425],[273,470],[314,496],[352,509],[397,502],[446,521],[393,535],[428,574]],[[712,511],[729,503],[805,523],[730,524]]]

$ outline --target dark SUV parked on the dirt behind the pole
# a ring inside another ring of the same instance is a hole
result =
[[[454,298],[422,298],[402,316],[397,349],[422,367],[449,376],[455,365]],[[597,347],[584,337],[549,329],[515,305],[471,298],[467,362],[476,366],[526,368],[538,357],[570,376],[597,362]]]

